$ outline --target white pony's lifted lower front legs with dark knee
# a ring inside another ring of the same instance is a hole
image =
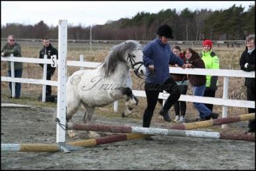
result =
[[[121,114],[122,117],[131,114],[135,105],[138,105],[139,99],[133,95],[133,91],[129,87],[123,87],[123,99],[125,99],[126,110]]]

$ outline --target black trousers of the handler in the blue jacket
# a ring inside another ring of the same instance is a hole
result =
[[[172,77],[168,78],[164,84],[150,84],[145,82],[144,90],[146,92],[147,106],[143,114],[143,127],[149,128],[154,109],[158,101],[159,93],[163,90],[170,93],[166,103],[164,103],[164,110],[169,110],[172,105],[176,103],[181,94],[179,91],[179,86],[176,84]]]

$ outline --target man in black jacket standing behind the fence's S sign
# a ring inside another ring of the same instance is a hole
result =
[[[44,55],[47,55],[47,58],[51,59],[52,55],[56,55],[58,59],[58,51],[51,45],[51,43],[49,43],[48,37],[44,37],[42,43],[44,47],[40,50],[39,58],[44,59]],[[40,66],[44,68],[44,64],[40,64]],[[51,80],[54,71],[55,68],[51,67],[51,64],[47,64],[46,80]],[[51,95],[51,85],[46,85],[46,95]]]

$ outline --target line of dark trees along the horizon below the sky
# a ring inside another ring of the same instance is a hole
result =
[[[211,11],[201,9],[190,11],[188,8],[177,12],[166,9],[158,13],[138,12],[133,18],[109,20],[104,25],[92,26],[92,39],[112,40],[151,40],[156,37],[158,26],[168,24],[172,27],[174,39],[181,41],[237,40],[245,39],[255,33],[255,5],[247,11],[233,5],[229,9]],[[90,39],[90,26],[68,26],[68,39]],[[58,26],[48,26],[44,21],[34,25],[8,23],[1,26],[1,37],[14,34],[17,38],[41,39],[58,38]]]

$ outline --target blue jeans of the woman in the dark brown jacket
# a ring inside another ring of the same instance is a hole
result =
[[[204,85],[193,85],[193,95],[203,96],[205,92],[205,84]],[[201,119],[205,119],[206,116],[211,114],[210,109],[208,109],[204,103],[195,103],[193,102],[195,108],[199,111],[199,116]]]

